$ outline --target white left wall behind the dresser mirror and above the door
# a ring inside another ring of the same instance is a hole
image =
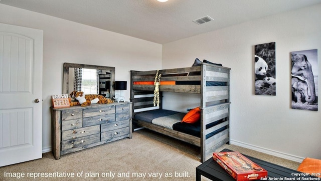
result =
[[[44,30],[43,151],[51,150],[51,95],[62,93],[64,62],[114,66],[116,80],[127,80],[130,70],[157,69],[162,45],[61,18],[0,4],[0,22]],[[117,93],[117,92],[116,92]],[[118,92],[119,93],[119,92]]]

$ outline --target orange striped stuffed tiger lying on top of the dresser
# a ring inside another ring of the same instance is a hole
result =
[[[87,106],[92,103],[112,103],[112,102],[114,102],[110,98],[106,98],[103,95],[98,95],[98,94],[85,95],[84,92],[82,92],[82,91],[76,91],[76,92],[72,92],[72,93],[74,93],[76,100],[78,100],[78,104],[73,103],[73,105],[80,104],[81,106]],[[71,95],[71,97],[72,96],[73,95]]]

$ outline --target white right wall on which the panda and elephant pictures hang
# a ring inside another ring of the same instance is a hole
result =
[[[289,56],[291,51],[317,48],[321,70],[320,17],[318,4],[163,44],[162,67],[191,66],[196,57],[231,67],[231,142],[297,161],[307,156],[321,158],[320,110],[290,108]],[[276,96],[255,95],[254,45],[273,41]],[[190,99],[199,103],[195,97]],[[172,98],[167,98],[165,108],[183,109],[172,105]]]

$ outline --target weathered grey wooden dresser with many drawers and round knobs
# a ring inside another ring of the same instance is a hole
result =
[[[131,102],[53,108],[52,152],[61,155],[131,138]]]

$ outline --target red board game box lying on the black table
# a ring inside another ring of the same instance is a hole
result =
[[[213,152],[213,159],[235,180],[247,181],[267,177],[267,171],[237,151]]]

